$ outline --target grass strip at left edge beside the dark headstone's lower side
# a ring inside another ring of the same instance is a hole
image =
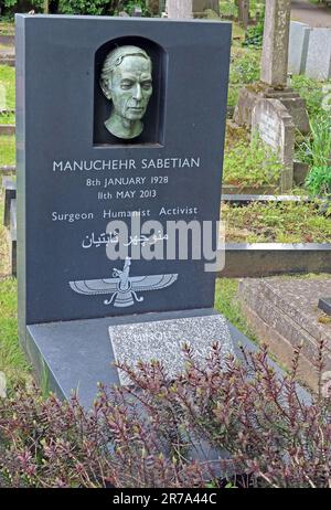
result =
[[[17,280],[0,280],[0,371],[9,389],[30,379],[30,369],[18,340]]]

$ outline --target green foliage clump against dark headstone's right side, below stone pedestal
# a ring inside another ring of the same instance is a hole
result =
[[[225,153],[224,182],[234,185],[260,187],[279,184],[282,166],[277,155],[258,137],[252,144],[238,140]]]

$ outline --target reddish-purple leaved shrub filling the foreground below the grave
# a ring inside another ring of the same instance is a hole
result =
[[[100,386],[90,411],[35,386],[0,400],[0,486],[331,487],[331,401],[298,392],[300,349],[286,376],[266,349],[224,370],[217,344],[203,368],[184,353],[172,381],[121,365],[132,385]]]

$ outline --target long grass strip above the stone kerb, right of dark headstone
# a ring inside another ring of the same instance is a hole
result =
[[[233,243],[331,243],[330,215],[314,203],[222,206],[226,241]]]

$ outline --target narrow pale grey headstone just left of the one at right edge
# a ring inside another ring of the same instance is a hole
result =
[[[308,24],[291,21],[288,56],[288,71],[290,73],[305,73],[310,32],[311,29]]]

